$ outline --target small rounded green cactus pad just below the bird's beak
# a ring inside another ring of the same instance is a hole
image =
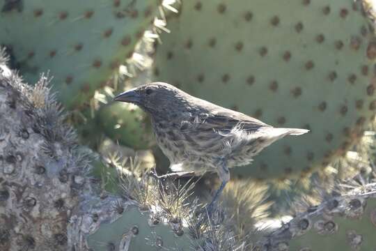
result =
[[[102,107],[97,119],[104,134],[133,149],[147,149],[154,143],[148,116],[136,105],[116,102]]]

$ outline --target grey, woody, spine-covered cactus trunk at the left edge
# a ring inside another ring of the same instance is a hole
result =
[[[0,250],[67,250],[68,220],[91,189],[88,155],[47,77],[32,88],[5,63],[0,51]]]

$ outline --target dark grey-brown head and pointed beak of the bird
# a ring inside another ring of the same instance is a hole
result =
[[[185,109],[188,97],[187,93],[171,84],[155,82],[120,93],[114,99],[134,103],[152,115],[160,115],[159,113],[164,113],[172,107]]]

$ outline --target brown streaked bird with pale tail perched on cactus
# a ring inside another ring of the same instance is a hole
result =
[[[209,206],[230,179],[228,168],[249,164],[253,156],[286,135],[308,132],[274,128],[162,82],[125,91],[115,100],[132,102],[150,114],[157,144],[173,172],[217,172],[221,186]]]

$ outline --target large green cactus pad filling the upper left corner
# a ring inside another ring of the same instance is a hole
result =
[[[88,101],[152,24],[159,1],[0,1],[0,45],[27,82],[54,75],[68,107]]]

